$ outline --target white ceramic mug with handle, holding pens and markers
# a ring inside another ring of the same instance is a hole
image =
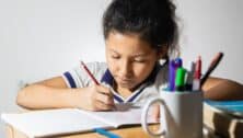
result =
[[[160,129],[148,128],[147,118],[151,105],[160,104]],[[150,99],[142,108],[141,123],[151,137],[202,138],[202,92],[161,91],[160,96]]]

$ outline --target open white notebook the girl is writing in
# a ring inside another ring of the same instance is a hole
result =
[[[78,108],[45,110],[20,114],[2,114],[1,118],[27,137],[46,137],[140,125],[141,108],[119,104],[112,112],[88,112]],[[149,119],[150,123],[155,123]]]

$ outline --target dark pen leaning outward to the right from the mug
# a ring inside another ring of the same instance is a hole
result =
[[[206,80],[208,79],[208,77],[210,76],[210,73],[216,69],[216,67],[219,65],[219,62],[221,61],[223,57],[223,53],[218,53],[216,55],[216,57],[212,59],[208,70],[206,71],[206,73],[202,76],[201,80],[200,80],[200,85],[202,88],[204,83],[206,82]]]

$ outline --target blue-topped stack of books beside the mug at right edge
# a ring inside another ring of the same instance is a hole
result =
[[[243,137],[243,101],[204,102],[204,123],[220,137]]]

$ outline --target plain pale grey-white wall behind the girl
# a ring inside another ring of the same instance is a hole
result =
[[[102,13],[111,0],[0,0],[0,113],[14,112],[22,81],[59,76],[84,61],[104,61]],[[181,50],[202,57],[202,71],[217,51],[225,57],[213,76],[243,83],[243,1],[177,0]],[[4,137],[0,120],[0,137]]]

